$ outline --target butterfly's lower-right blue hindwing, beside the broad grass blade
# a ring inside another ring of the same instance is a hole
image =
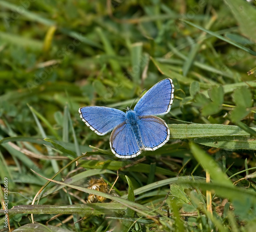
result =
[[[156,150],[170,137],[170,131],[164,120],[156,116],[141,116],[138,127],[144,150]]]

